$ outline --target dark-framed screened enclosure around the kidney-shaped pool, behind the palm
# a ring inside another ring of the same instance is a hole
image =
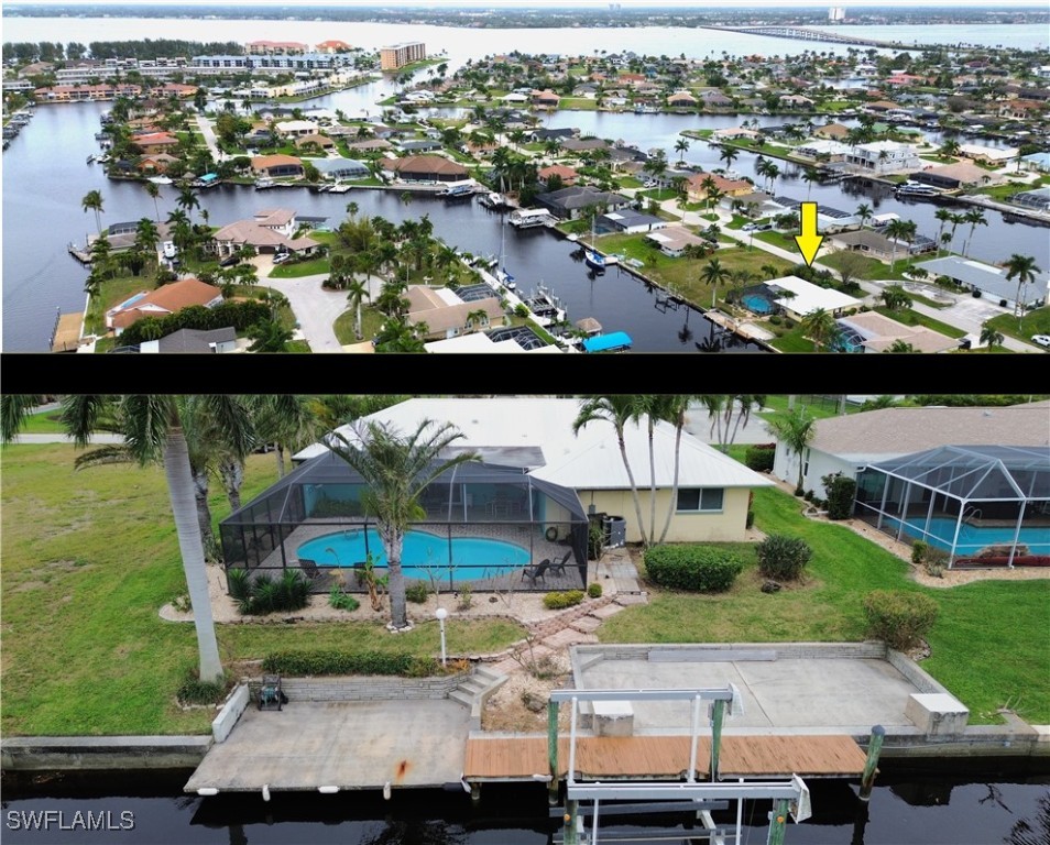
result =
[[[442,592],[464,584],[477,591],[587,584],[588,518],[579,496],[521,465],[493,462],[528,463],[515,451],[461,463],[424,490],[402,551],[407,581]],[[379,575],[387,566],[374,517],[365,513],[365,490],[336,454],[313,458],[222,522],[227,570],[273,577],[299,570],[315,592],[364,591],[365,566]]]

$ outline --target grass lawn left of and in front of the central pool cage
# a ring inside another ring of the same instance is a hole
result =
[[[3,735],[206,734],[212,711],[175,704],[197,659],[194,627],[157,615],[186,591],[164,473],[74,472],[76,454],[59,445],[2,452]],[[243,501],[275,479],[273,456],[252,456]],[[218,522],[229,506],[218,483],[211,491]],[[228,625],[218,636],[227,665],[278,648],[439,649],[429,622],[397,637],[363,622]],[[493,651],[521,628],[456,624],[448,637],[453,654]]]

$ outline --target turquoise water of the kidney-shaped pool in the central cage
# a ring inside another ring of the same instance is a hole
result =
[[[428,579],[455,577],[457,581],[472,581],[507,572],[507,568],[531,563],[528,549],[504,540],[485,537],[453,537],[451,571],[449,541],[428,531],[408,531],[401,555],[405,578]],[[386,567],[386,550],[374,528],[368,529],[368,548],[376,567]],[[299,558],[313,560],[320,567],[353,567],[367,557],[364,531],[360,528],[326,534],[299,546]]]

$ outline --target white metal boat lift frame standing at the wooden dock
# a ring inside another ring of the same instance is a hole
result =
[[[692,727],[690,731],[689,768],[686,782],[669,781],[617,781],[615,783],[579,782],[576,779],[577,713],[581,701],[691,701]],[[566,772],[566,804],[562,813],[562,836],[555,842],[564,845],[580,845],[586,842],[583,816],[591,816],[591,845],[598,845],[598,823],[602,801],[636,801],[633,804],[605,806],[606,815],[624,813],[696,812],[704,828],[685,832],[687,837],[707,836],[711,842],[725,843],[734,834],[726,827],[714,824],[711,810],[725,809],[730,800],[737,801],[735,842],[741,842],[743,801],[745,799],[772,799],[769,835],[767,845],[783,845],[788,814],[796,822],[812,814],[809,789],[797,775],[786,781],[725,781],[719,779],[719,751],[722,737],[722,720],[725,715],[743,713],[743,700],[734,684],[724,689],[685,690],[557,690],[550,693],[547,709],[547,756],[550,767],[548,797],[557,803],[558,794],[558,712],[560,703],[571,704],[569,727],[569,761]],[[708,701],[708,718],[711,727],[711,780],[697,780],[697,745],[700,736],[700,704]],[[581,801],[591,801],[588,810],[580,809]],[[675,834],[678,841],[682,832]],[[647,838],[653,838],[648,836]],[[613,839],[615,841],[615,839]],[[621,839],[622,841],[622,839]]]

